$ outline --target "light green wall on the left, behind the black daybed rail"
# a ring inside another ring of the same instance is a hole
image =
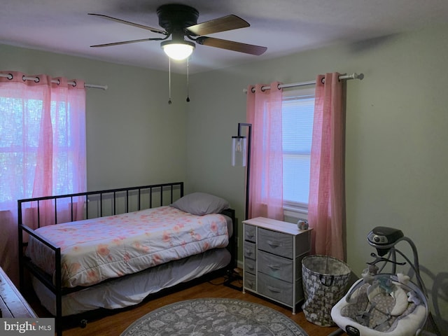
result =
[[[87,188],[186,180],[183,76],[0,45],[0,69],[82,78],[87,90]],[[181,80],[181,79],[182,80]],[[179,83],[176,84],[176,83]]]

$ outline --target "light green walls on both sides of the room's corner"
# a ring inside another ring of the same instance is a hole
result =
[[[90,190],[186,181],[186,192],[228,199],[244,216],[244,170],[230,165],[230,137],[245,121],[248,84],[295,83],[318,73],[362,72],[347,82],[347,262],[360,274],[377,225],[399,228],[419,249],[426,286],[448,330],[448,26],[301,52],[190,76],[0,45],[0,69],[83,78]],[[223,52],[226,52],[223,50]],[[241,235],[240,235],[241,237]],[[434,311],[434,309],[433,309]]]

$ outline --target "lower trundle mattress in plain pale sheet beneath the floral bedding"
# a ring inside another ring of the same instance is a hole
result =
[[[138,304],[151,293],[221,269],[229,264],[230,258],[227,248],[216,248],[64,295],[62,316],[99,308],[119,309]],[[35,278],[33,286],[43,307],[55,315],[55,295]]]

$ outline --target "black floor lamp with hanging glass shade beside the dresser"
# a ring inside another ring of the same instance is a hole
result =
[[[241,127],[248,127],[247,137],[241,135]],[[238,135],[232,137],[232,166],[236,167],[246,167],[246,206],[244,209],[244,219],[248,219],[249,212],[249,178],[251,173],[251,135],[252,135],[252,124],[239,123],[238,124]],[[237,255],[237,239],[234,235],[232,255]],[[232,258],[234,258],[232,256]],[[236,267],[236,260],[232,260],[232,267]],[[241,286],[235,286],[232,284],[233,281],[241,280],[242,276],[237,274],[237,272],[229,272],[228,280],[225,281],[225,286],[234,288],[236,290],[242,290]]]

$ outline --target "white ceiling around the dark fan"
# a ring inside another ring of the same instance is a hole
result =
[[[160,41],[90,48],[90,45],[160,37],[144,29],[87,15],[99,13],[158,29],[158,6],[169,0],[1,0],[0,43],[119,64],[167,70]],[[213,34],[264,45],[261,56],[197,45],[190,73],[260,59],[356,43],[448,22],[447,0],[190,0],[175,1],[200,12],[198,23],[235,14],[251,27]],[[163,30],[163,29],[162,29]],[[185,62],[172,71],[184,73]]]

